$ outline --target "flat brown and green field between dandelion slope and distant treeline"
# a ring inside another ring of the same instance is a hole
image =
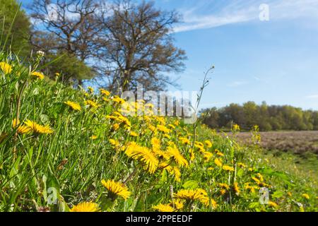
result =
[[[259,158],[276,170],[288,172],[298,178],[307,178],[318,194],[318,131],[261,132]],[[252,133],[235,134],[241,145],[252,145]]]

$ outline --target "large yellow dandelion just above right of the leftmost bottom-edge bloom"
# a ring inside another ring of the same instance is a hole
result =
[[[108,197],[111,198],[113,201],[117,198],[117,196],[121,196],[125,200],[129,198],[131,192],[126,188],[126,186],[120,182],[114,182],[114,180],[107,180],[102,179],[102,185],[108,191]]]

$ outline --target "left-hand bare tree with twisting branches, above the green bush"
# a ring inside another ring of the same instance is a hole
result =
[[[95,40],[102,30],[97,18],[106,9],[102,4],[94,0],[34,0],[29,8],[35,23],[40,23],[31,37],[34,47],[66,52],[86,63],[93,61],[100,43]]]

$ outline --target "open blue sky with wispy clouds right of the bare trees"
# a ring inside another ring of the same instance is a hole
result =
[[[216,67],[200,107],[252,100],[318,109],[318,0],[155,4],[183,14],[173,35],[187,52],[187,69],[171,75],[182,90],[199,90],[204,71]],[[269,21],[259,20],[261,4],[269,6]]]

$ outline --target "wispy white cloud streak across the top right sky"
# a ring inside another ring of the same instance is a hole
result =
[[[234,23],[246,23],[259,19],[259,6],[264,0],[236,0],[224,1],[225,4],[219,6],[219,2],[204,1],[191,9],[182,10],[184,13],[184,23],[177,25],[174,32],[184,32],[188,30],[199,30],[215,28],[222,25]],[[293,18],[318,18],[318,0],[270,0],[269,5],[270,20],[293,19]],[[217,5],[218,7],[213,7]],[[202,13],[206,8],[211,8],[211,12]]]

